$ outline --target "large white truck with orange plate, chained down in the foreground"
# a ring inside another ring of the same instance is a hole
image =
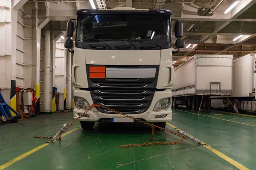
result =
[[[74,119],[98,104],[165,127],[172,120],[172,12],[161,9],[80,9],[67,23],[65,48],[74,51],[72,82]],[[175,23],[176,48],[183,48],[183,25]],[[95,122],[133,122],[96,107],[79,119],[81,127]]]

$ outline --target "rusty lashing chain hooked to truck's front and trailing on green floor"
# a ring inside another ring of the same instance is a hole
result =
[[[120,115],[125,116],[125,117],[128,117],[128,118],[130,118],[130,119],[134,119],[134,120],[136,120],[137,122],[140,122],[140,123],[143,123],[143,124],[145,124],[145,125],[151,126],[151,127],[152,127],[151,140],[152,140],[152,141],[155,141],[155,140],[156,140],[156,139],[154,139],[154,132],[155,132],[155,128],[156,128],[156,127],[157,127],[158,129],[160,129],[160,130],[166,131],[167,133],[171,133],[171,134],[173,134],[173,135],[180,136],[180,138],[182,138],[182,139],[180,139],[180,140],[178,140],[178,141],[175,141],[175,142],[153,142],[153,143],[148,143],[148,142],[147,142],[147,143],[143,143],[143,144],[121,145],[120,147],[148,146],[148,145],[160,145],[160,144],[177,144],[177,143],[181,143],[184,139],[186,139],[185,136],[183,136],[183,135],[181,135],[181,134],[178,134],[178,133],[175,133],[175,132],[173,132],[172,130],[165,129],[165,128],[163,128],[163,127],[158,127],[158,126],[153,125],[153,124],[151,124],[151,123],[148,123],[148,122],[146,122],[146,121],[142,121],[141,119],[134,118],[133,116],[128,116],[128,115],[125,114],[125,113],[121,113],[121,112],[115,111],[115,110],[113,110],[113,109],[111,109],[111,108],[107,108],[107,107],[105,107],[105,106],[102,106],[102,105],[95,105],[95,104],[91,105],[89,109],[87,109],[86,111],[84,111],[84,113],[82,113],[78,118],[76,118],[72,123],[70,123],[70,125],[68,125],[68,126],[65,128],[65,130],[67,130],[67,129],[68,129],[69,127],[71,127],[74,123],[76,123],[82,116],[84,116],[84,115],[85,115],[88,111],[90,111],[93,107],[101,107],[101,108],[104,108],[104,109],[106,109],[106,110],[108,110],[108,111],[111,111],[111,112],[120,114]],[[60,133],[60,135],[61,135],[61,133]],[[34,138],[52,139],[51,136],[34,136]],[[58,139],[61,140],[61,137],[59,136]]]

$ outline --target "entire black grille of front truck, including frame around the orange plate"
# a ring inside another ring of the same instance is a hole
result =
[[[138,114],[148,110],[157,89],[157,77],[159,65],[104,65],[107,69],[152,69],[155,70],[155,77],[145,78],[102,78],[90,79],[90,66],[102,65],[86,65],[88,88],[80,88],[81,90],[90,91],[93,103],[103,105],[105,107],[120,111],[127,114]],[[113,112],[98,108],[102,113]]]

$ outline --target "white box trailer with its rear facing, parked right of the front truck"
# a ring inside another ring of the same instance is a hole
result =
[[[233,55],[195,55],[175,68],[172,107],[186,105],[198,109],[202,96],[203,106],[210,108],[210,96],[232,94]]]

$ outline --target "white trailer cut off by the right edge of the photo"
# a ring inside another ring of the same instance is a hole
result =
[[[233,92],[228,96],[239,113],[256,111],[256,54],[247,54],[233,60]],[[211,107],[229,108],[235,112],[227,98],[211,97]]]

